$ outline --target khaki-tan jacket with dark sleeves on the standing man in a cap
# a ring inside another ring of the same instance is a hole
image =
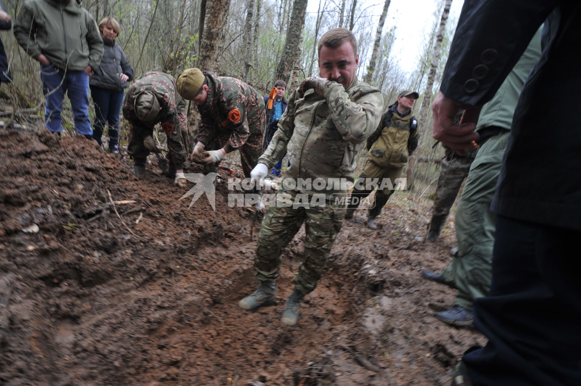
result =
[[[392,104],[383,113],[377,129],[381,134],[367,153],[368,160],[383,167],[406,165],[419,142],[414,111],[409,111],[402,117],[397,111],[397,104]]]

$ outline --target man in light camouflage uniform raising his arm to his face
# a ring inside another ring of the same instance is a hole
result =
[[[281,194],[277,194],[276,203],[270,205],[263,219],[256,248],[254,270],[260,286],[238,303],[242,309],[251,311],[274,302],[274,281],[279,275],[282,250],[304,223],[304,259],[281,319],[288,326],[296,325],[304,295],[317,287],[345,217],[344,204],[329,204],[331,194],[347,196],[349,185],[354,181],[357,152],[381,117],[381,92],[355,76],[359,59],[356,52],[356,38],[345,28],[335,28],[321,37],[318,43],[320,77],[303,80],[292,92],[278,130],[250,174],[260,184],[272,165],[288,151],[290,167],[285,171],[285,182],[278,193],[286,193],[295,203],[299,194],[303,197],[317,194],[324,199],[322,205],[283,207],[279,200]],[[345,185],[329,186],[332,178],[343,179]],[[327,184],[322,191],[304,186],[291,189],[300,179],[319,179]]]

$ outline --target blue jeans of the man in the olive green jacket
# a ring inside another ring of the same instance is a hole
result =
[[[46,127],[53,133],[60,133],[61,111],[63,109],[64,93],[71,102],[74,114],[74,127],[78,134],[91,136],[91,121],[89,120],[89,75],[85,71],[66,71],[54,66],[41,66],[40,78],[42,93],[46,97],[46,112],[44,121]]]

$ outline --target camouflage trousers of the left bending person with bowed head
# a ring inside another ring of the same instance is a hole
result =
[[[187,125],[182,129],[178,125],[174,125],[172,132],[166,133],[167,136],[167,160],[170,161],[170,167],[175,169],[184,168],[185,160],[188,155],[188,129]],[[153,135],[153,130],[150,129],[132,129],[129,132],[129,145],[127,146],[127,153],[133,157],[135,165],[144,165],[149,150],[144,145],[144,138],[148,135]]]

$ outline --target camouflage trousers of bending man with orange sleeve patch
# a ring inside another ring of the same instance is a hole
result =
[[[244,145],[238,147],[242,171],[246,178],[250,178],[250,172],[258,164],[258,158],[262,154],[262,142],[264,136],[264,110],[252,117],[248,122],[250,136],[246,139]],[[224,147],[230,138],[231,131],[220,130],[216,136],[206,145],[205,150],[218,150]],[[219,164],[219,163],[218,163]],[[206,165],[204,174],[218,172],[218,164]]]

